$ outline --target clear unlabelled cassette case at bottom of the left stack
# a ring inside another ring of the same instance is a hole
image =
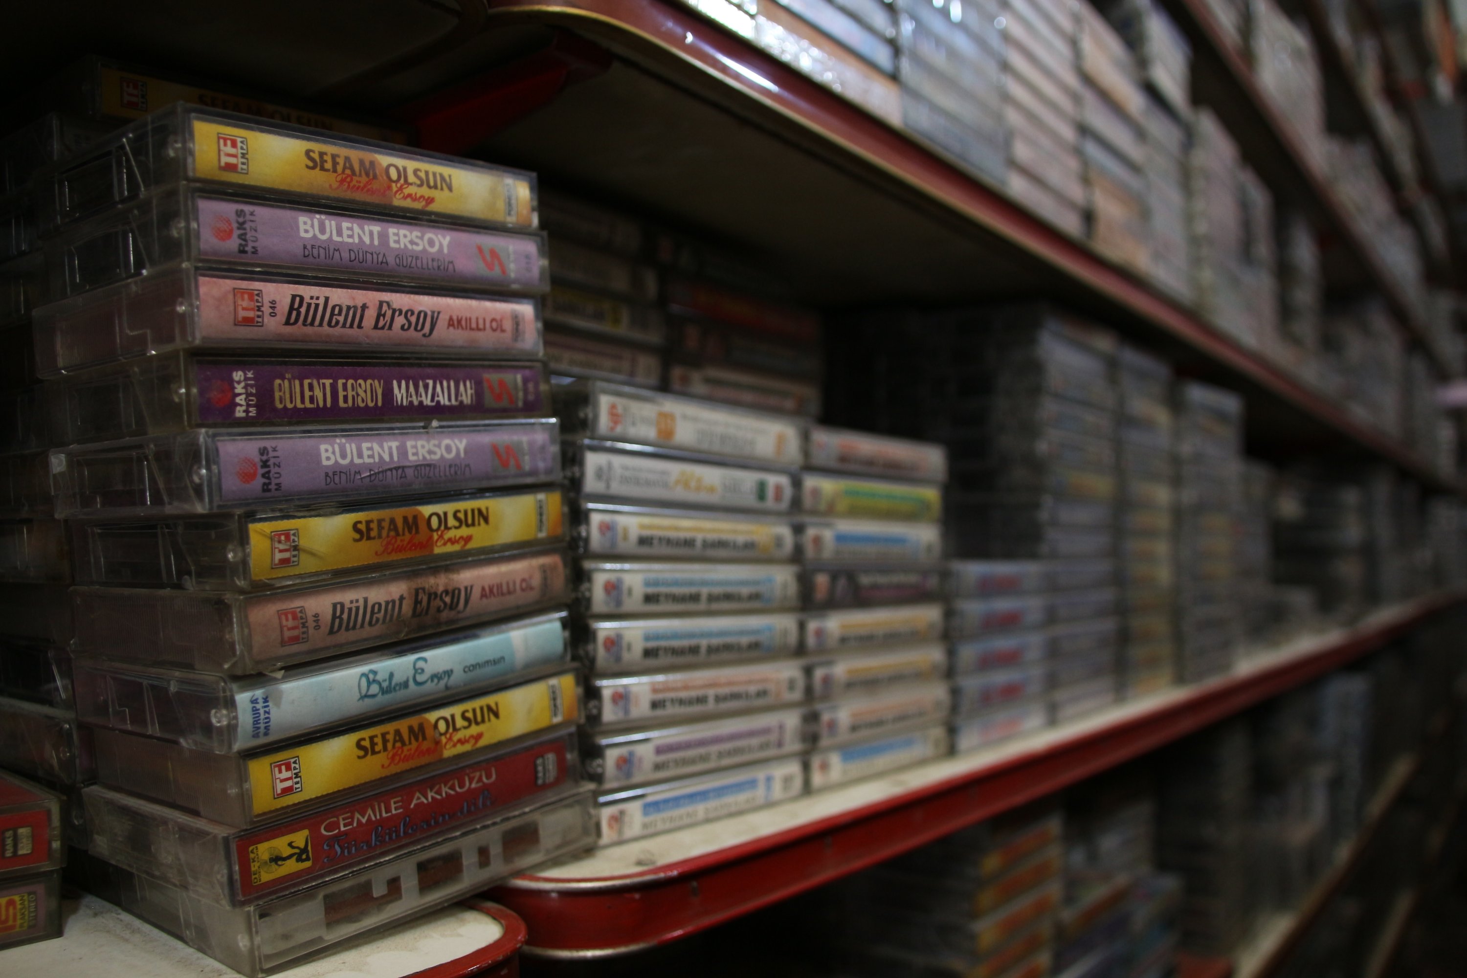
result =
[[[258,978],[332,943],[477,893],[596,840],[588,798],[506,814],[315,887],[229,908],[183,887],[98,864],[94,890],[210,957]]]

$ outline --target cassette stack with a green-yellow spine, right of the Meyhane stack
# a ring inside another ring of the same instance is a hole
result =
[[[810,789],[948,752],[942,487],[948,452],[811,425],[801,474]]]

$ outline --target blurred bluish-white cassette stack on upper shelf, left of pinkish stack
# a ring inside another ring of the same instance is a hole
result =
[[[1003,183],[1003,32],[998,0],[896,0],[902,125],[964,169]]]

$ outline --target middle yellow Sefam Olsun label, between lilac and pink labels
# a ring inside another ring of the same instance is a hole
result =
[[[467,554],[553,540],[562,531],[559,491],[261,519],[249,523],[249,576],[279,581],[434,554]]]

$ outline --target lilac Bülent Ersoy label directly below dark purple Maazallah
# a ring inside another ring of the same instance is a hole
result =
[[[361,435],[217,438],[224,503],[273,503],[343,493],[484,488],[553,481],[553,424],[409,430]]]

